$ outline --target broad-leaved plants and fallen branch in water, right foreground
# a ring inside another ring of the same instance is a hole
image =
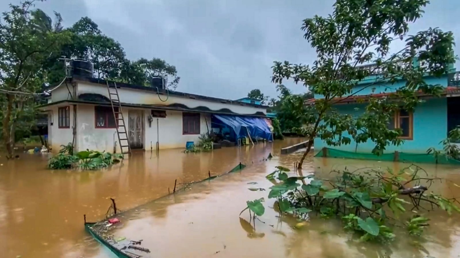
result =
[[[420,236],[429,219],[422,215],[409,217],[413,210],[427,212],[440,208],[449,214],[460,212],[457,199],[426,193],[433,182],[442,179],[429,178],[426,171],[416,165],[397,173],[373,168],[331,171],[337,176],[328,180],[329,185],[313,175],[289,176],[288,172],[288,168],[276,167],[276,171],[266,176],[274,183],[268,198],[276,199],[275,209],[304,220],[312,212],[322,218],[341,219],[344,229],[360,235],[361,241],[391,240],[395,237],[394,226],[405,226],[410,235]],[[246,209],[260,216],[263,204],[256,201],[248,201]],[[251,209],[252,205],[257,205],[259,213]],[[401,217],[408,221],[400,222]]]

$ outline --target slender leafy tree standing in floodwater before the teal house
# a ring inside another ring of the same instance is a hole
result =
[[[423,77],[447,73],[455,59],[451,32],[429,28],[406,36],[409,23],[421,17],[422,8],[428,3],[427,0],[337,0],[332,15],[304,20],[304,37],[316,49],[316,60],[312,65],[275,62],[272,78],[277,84],[283,79],[293,79],[324,96],[300,115],[312,126],[306,132],[310,143],[299,168],[316,137],[332,146],[350,144],[351,138],[357,143],[370,140],[375,143],[373,153],[377,155],[385,146],[402,143],[398,138],[401,130],[387,128],[391,112],[401,106],[413,110],[419,102],[416,91],[439,95],[442,86],[427,84]],[[395,41],[403,41],[404,46],[390,52]],[[368,69],[358,67],[369,62],[375,65]],[[339,113],[334,104],[359,94],[361,89],[356,90],[355,86],[377,71],[381,71],[380,76],[364,88],[380,82],[393,84],[401,79],[406,84],[387,98],[368,96],[359,117]]]

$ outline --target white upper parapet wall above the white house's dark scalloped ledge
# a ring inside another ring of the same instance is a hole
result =
[[[97,94],[101,94],[106,97],[109,97],[109,93],[107,92],[107,87],[102,84],[90,84],[88,82],[78,82],[77,90],[78,90],[77,95],[80,95],[82,93],[97,93]],[[199,106],[208,107],[211,110],[219,110],[221,108],[228,108],[232,112],[239,113],[239,114],[254,114],[255,112],[263,112],[264,114],[266,113],[266,109],[264,107],[232,105],[228,103],[204,101],[204,100],[199,100],[199,99],[191,99],[188,97],[185,98],[185,97],[178,97],[178,96],[173,96],[173,95],[170,95],[168,98],[167,95],[161,95],[161,94],[158,95],[155,92],[149,92],[145,90],[121,88],[121,89],[118,89],[118,94],[120,95],[121,102],[132,103],[132,104],[170,105],[173,103],[180,103],[190,108],[199,107]],[[161,101],[160,98],[163,101]],[[164,101],[164,100],[167,100],[167,101]],[[53,101],[55,100],[53,99]]]

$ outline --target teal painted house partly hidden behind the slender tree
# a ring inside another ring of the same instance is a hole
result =
[[[363,66],[362,69],[374,70],[373,65]],[[353,92],[364,88],[369,83],[373,83],[378,74],[369,76],[358,84]],[[442,148],[440,141],[447,137],[448,132],[456,126],[460,126],[460,72],[455,72],[452,65],[449,74],[441,78],[426,76],[424,78],[428,84],[441,84],[444,92],[441,97],[430,95],[420,95],[425,102],[418,104],[414,112],[400,111],[394,114],[390,128],[400,128],[403,131],[404,143],[400,146],[386,146],[384,154],[398,152],[405,153],[426,153],[430,147]],[[359,115],[366,103],[362,100],[367,95],[375,97],[385,96],[396,91],[403,86],[405,81],[399,81],[394,84],[382,82],[369,88],[363,89],[357,95],[347,98],[343,102],[336,104],[339,112]],[[305,101],[306,105],[312,104],[315,99],[322,98],[321,95],[315,95],[314,99]],[[365,102],[365,101],[364,101]],[[346,136],[346,135],[344,135]],[[371,153],[375,144],[372,141],[356,144],[353,140],[349,145],[327,146],[320,138],[315,139],[315,151],[321,151],[323,147],[329,147],[342,151],[351,151],[357,153]]]

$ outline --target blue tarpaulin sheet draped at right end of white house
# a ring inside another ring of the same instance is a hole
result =
[[[219,121],[216,121],[216,119]],[[249,131],[252,138],[260,137],[272,140],[270,127],[265,121],[265,118],[213,114],[212,121],[213,123],[220,122],[220,124],[224,124],[233,129],[237,138],[247,136],[247,132]]]

